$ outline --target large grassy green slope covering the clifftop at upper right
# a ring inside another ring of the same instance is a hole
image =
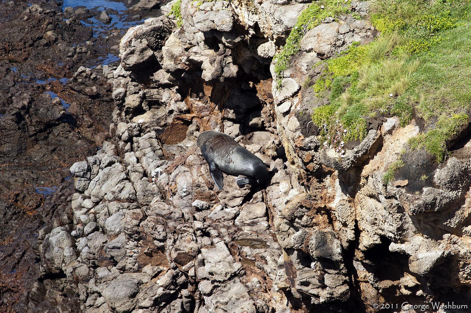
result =
[[[405,126],[415,111],[426,132],[411,148],[426,149],[441,162],[471,114],[471,5],[374,0],[371,9],[381,35],[326,60],[327,70],[313,84],[319,96],[330,92],[330,104],[311,115],[321,140],[335,147],[333,134],[341,129],[347,130],[342,140],[363,140],[368,118],[397,115]]]

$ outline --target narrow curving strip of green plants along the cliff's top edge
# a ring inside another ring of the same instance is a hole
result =
[[[275,73],[276,81],[278,88],[281,87],[281,80],[283,76],[283,71],[288,68],[290,65],[290,60],[292,56],[299,52],[300,42],[305,33],[313,29],[317,25],[320,25],[322,21],[329,16],[337,17],[341,14],[349,12],[350,0],[345,1],[336,1],[336,0],[319,0],[311,3],[307,8],[305,8],[298,20],[296,25],[292,28],[286,43],[278,52],[275,57]],[[324,8],[321,8],[324,6]]]

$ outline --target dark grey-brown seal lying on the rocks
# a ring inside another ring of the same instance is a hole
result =
[[[268,179],[263,161],[222,132],[202,132],[196,144],[208,162],[212,180],[221,190],[224,187],[222,173],[246,176],[235,180],[239,187],[260,184]]]

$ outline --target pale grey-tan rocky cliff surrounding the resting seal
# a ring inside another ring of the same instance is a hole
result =
[[[39,231],[38,288],[60,279],[54,297],[63,312],[77,310],[61,306],[65,294],[90,313],[469,305],[465,131],[438,164],[425,150],[404,151],[423,131],[415,119],[400,126],[397,116],[380,116],[364,138],[337,145],[321,142],[311,120],[328,102],[306,87],[323,77],[321,61],[379,34],[369,3],[340,3],[305,29],[281,72],[273,57],[309,3],[160,5],[122,37],[120,65],[102,69],[115,104],[109,137],[70,168],[74,192],[56,198],[63,217]],[[270,182],[240,189],[225,175],[217,189],[195,148],[205,130],[260,157]],[[398,157],[405,166],[385,182]]]

